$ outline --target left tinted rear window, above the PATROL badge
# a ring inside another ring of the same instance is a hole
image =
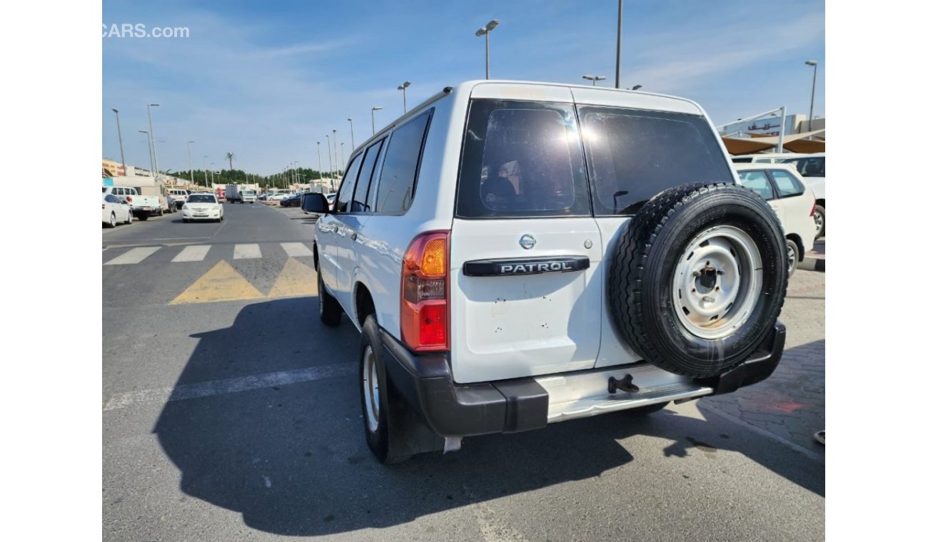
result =
[[[474,100],[458,180],[458,216],[588,216],[574,107]]]

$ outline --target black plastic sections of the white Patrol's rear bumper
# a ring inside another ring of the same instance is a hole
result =
[[[719,376],[694,380],[708,389],[700,395],[720,395],[766,379],[780,364],[786,327],[778,321],[764,344],[731,371]],[[485,384],[455,384],[448,354],[415,355],[391,334],[380,330],[382,359],[390,380],[414,410],[442,436],[516,433],[539,429],[548,424],[548,391],[535,378],[519,378]],[[568,372],[561,376],[595,375],[622,370],[607,367],[588,372]],[[543,378],[549,379],[546,375]],[[539,377],[542,378],[542,377]],[[667,397],[667,400],[674,397]],[[662,397],[651,397],[658,402]],[[631,403],[629,403],[631,404]],[[619,409],[612,409],[619,410]],[[590,410],[590,414],[609,410]],[[580,417],[580,416],[571,416]]]

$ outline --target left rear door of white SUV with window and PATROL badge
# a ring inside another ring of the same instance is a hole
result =
[[[470,104],[450,241],[460,383],[596,363],[602,243],[570,100]]]

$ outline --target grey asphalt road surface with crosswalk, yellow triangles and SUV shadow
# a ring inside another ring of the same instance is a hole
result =
[[[816,445],[722,397],[381,466],[360,418],[359,335],[316,316],[297,246],[311,248],[312,222],[225,209],[221,224],[174,214],[102,235],[105,540],[824,539]],[[784,320],[818,325],[810,296],[794,297]]]

